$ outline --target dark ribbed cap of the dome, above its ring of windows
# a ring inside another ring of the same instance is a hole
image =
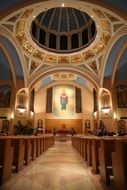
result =
[[[55,7],[40,13],[34,21],[57,34],[61,32],[80,32],[80,29],[89,24],[90,16],[85,12],[72,7]]]

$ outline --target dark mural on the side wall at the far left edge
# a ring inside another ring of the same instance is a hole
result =
[[[11,101],[12,87],[9,85],[0,85],[0,108],[9,108]]]

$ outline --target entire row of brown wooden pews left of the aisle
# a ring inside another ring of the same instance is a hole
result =
[[[51,135],[0,136],[0,185],[54,145]]]

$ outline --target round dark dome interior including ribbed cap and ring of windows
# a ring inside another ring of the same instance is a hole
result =
[[[48,51],[70,53],[87,47],[94,40],[96,26],[85,12],[56,7],[40,13],[33,20],[31,35]]]

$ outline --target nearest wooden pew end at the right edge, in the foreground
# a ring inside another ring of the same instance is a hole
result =
[[[115,152],[112,153],[112,166],[116,190],[127,189],[127,141],[115,142]]]

